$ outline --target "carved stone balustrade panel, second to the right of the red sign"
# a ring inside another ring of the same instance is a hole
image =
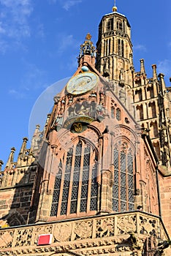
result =
[[[77,222],[75,225],[75,234],[82,239],[91,238],[92,222]]]

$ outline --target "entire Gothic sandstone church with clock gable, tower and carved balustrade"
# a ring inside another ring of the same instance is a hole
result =
[[[0,185],[0,255],[170,255],[170,89],[132,61],[131,27],[104,15],[42,132]],[[0,161],[0,167],[3,164]]]

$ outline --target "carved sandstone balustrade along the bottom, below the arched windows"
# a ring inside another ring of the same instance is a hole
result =
[[[53,234],[52,244],[38,246],[38,237],[42,234]],[[159,241],[169,239],[161,219],[133,211],[1,228],[0,255],[139,256],[147,253],[145,243],[149,244],[149,239],[152,251],[157,249]]]

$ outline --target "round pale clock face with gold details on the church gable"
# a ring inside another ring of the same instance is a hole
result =
[[[66,90],[69,94],[84,94],[96,86],[99,78],[91,72],[84,72],[71,78],[66,85]]]

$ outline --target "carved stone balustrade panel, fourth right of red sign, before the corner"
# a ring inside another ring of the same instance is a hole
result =
[[[136,216],[118,217],[117,230],[120,235],[136,232]]]

